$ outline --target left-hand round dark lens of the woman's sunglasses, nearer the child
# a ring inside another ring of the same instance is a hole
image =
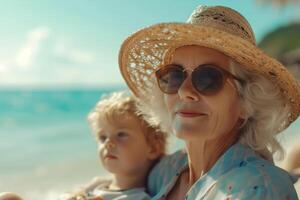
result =
[[[160,89],[168,94],[176,93],[185,79],[183,70],[178,67],[160,69],[156,76]]]

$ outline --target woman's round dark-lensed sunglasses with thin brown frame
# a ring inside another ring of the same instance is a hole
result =
[[[183,66],[170,64],[160,68],[155,72],[160,90],[166,94],[178,92],[188,74]],[[243,80],[237,78],[230,72],[212,64],[204,64],[192,70],[192,84],[194,88],[203,95],[213,95],[219,92],[228,77],[239,82]]]

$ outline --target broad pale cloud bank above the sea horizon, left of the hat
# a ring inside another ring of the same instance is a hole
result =
[[[48,27],[31,30],[19,51],[0,60],[0,87],[93,86],[122,80],[117,67],[109,67],[117,66],[117,58],[78,48],[53,32]]]

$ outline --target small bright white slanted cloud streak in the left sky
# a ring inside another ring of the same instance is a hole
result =
[[[16,64],[21,68],[32,65],[41,42],[48,38],[50,30],[47,27],[37,27],[30,31],[27,40],[16,57]]]

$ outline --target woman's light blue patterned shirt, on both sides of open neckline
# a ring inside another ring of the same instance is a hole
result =
[[[178,151],[165,156],[152,169],[148,192],[163,200],[188,167],[187,155]],[[215,165],[190,188],[186,200],[296,200],[292,177],[240,144],[232,145]]]

